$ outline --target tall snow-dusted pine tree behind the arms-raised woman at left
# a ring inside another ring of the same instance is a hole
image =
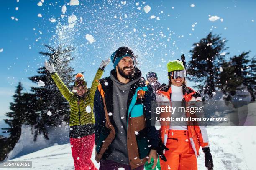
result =
[[[71,88],[74,82],[74,68],[69,67],[69,63],[74,59],[70,54],[74,48],[70,46],[62,48],[61,45],[56,48],[50,47],[49,45],[45,45],[45,47],[49,52],[40,52],[40,54],[46,56],[47,60],[54,64],[55,70],[58,72],[61,80],[67,87]],[[31,87],[31,91],[33,92],[31,95],[34,96],[35,101],[31,102],[30,105],[35,108],[34,112],[37,115],[36,124],[34,125],[34,140],[41,133],[43,133],[46,139],[49,139],[47,128],[56,127],[69,120],[69,105],[67,104],[67,100],[59,92],[54,81],[51,79],[50,73],[45,67],[40,67],[37,72],[38,75],[29,77],[29,79],[34,83],[42,81],[45,86]],[[34,120],[28,121],[33,122]]]

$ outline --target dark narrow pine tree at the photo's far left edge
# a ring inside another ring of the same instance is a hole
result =
[[[13,150],[21,135],[21,125],[26,113],[22,90],[23,87],[19,82],[13,95],[14,102],[10,103],[11,111],[5,114],[8,119],[4,119],[4,121],[9,125],[9,128],[2,128],[2,130],[4,130],[3,133],[9,133],[9,137],[0,138],[0,161],[3,161],[8,153]]]

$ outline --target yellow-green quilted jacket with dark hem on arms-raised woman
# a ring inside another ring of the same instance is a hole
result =
[[[57,73],[53,73],[51,75],[61,94],[65,97],[70,105],[69,137],[78,138],[94,133],[95,119],[92,111],[93,99],[95,90],[99,85],[98,79],[100,79],[102,74],[103,70],[99,68],[92,81],[91,88],[81,97],[77,95],[77,93],[71,92],[68,87],[64,85]],[[86,112],[86,110],[91,110],[91,112]]]

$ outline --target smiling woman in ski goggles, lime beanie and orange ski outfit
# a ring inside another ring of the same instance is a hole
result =
[[[184,55],[182,57],[185,59]],[[182,101],[186,103],[186,107],[190,107],[190,101],[201,104],[200,94],[186,85],[187,72],[185,63],[182,61],[174,60],[167,64],[169,85],[162,87],[156,93],[159,107],[172,107],[175,102],[182,106]],[[191,114],[184,112],[185,117],[191,116]],[[171,116],[171,113],[161,113],[160,117],[166,117],[166,115]],[[212,155],[205,126],[199,126],[194,122],[170,121],[161,124],[160,130],[163,144],[169,149],[164,151],[167,161],[160,160],[161,169],[197,170],[197,156],[199,155],[199,148],[202,147],[205,153],[205,166],[208,170],[213,170]]]

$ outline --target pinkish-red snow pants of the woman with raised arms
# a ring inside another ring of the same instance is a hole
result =
[[[82,138],[70,138],[75,170],[97,170],[91,160],[94,136],[92,134]]]

